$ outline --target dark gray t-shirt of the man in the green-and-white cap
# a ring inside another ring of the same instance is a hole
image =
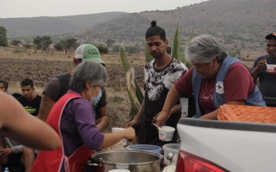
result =
[[[68,83],[69,83],[71,76],[70,76],[69,72],[67,72],[66,74],[67,74],[67,79],[68,79]],[[60,92],[61,92],[61,83],[60,83],[60,80],[58,79],[58,77],[55,77],[48,82],[48,84],[44,88],[43,94],[44,93],[47,94],[54,102],[57,102],[59,100]],[[96,107],[93,107],[93,108],[96,111],[97,109],[100,109],[100,108],[103,108],[104,106],[106,106],[106,104],[107,104],[106,93],[104,90],[99,103],[97,104]]]

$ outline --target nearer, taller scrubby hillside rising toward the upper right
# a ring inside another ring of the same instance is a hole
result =
[[[143,46],[145,31],[156,20],[169,40],[179,22],[183,44],[194,27],[195,35],[211,34],[229,50],[265,51],[265,35],[276,30],[276,18],[272,15],[275,9],[275,0],[209,0],[174,10],[124,14],[59,37],[74,35],[81,42],[92,43],[104,43],[111,38],[116,44],[125,41],[128,45]]]

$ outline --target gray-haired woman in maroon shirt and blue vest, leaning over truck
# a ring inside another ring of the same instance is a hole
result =
[[[265,106],[248,68],[229,57],[210,35],[195,37],[186,46],[186,60],[194,66],[170,89],[156,124],[162,126],[181,95],[194,93],[195,118],[217,119],[220,105]]]

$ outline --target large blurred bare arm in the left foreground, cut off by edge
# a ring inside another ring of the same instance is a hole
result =
[[[53,128],[30,115],[12,96],[0,92],[0,134],[32,148],[46,150],[60,146]]]

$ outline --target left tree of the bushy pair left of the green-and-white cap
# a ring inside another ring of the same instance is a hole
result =
[[[33,43],[37,49],[42,49],[42,52],[49,53],[49,46],[53,43],[50,36],[35,36]]]

